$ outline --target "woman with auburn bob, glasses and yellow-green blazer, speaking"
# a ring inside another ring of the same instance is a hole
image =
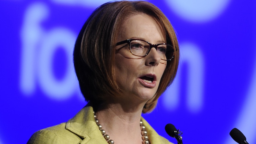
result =
[[[103,4],[75,43],[74,66],[89,103],[69,121],[40,130],[28,143],[170,143],[141,117],[173,82],[176,34],[145,1]],[[110,138],[109,138],[110,136]]]

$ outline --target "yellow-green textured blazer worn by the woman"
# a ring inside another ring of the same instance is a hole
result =
[[[172,144],[141,118],[151,144]],[[108,144],[94,121],[93,108],[83,107],[65,123],[35,132],[27,144]]]

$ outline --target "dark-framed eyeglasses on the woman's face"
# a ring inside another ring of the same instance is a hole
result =
[[[130,52],[135,56],[147,56],[151,48],[155,48],[157,50],[157,53],[162,60],[170,61],[174,56],[174,48],[170,44],[161,43],[154,45],[141,39],[126,39],[116,43],[116,45],[121,45],[124,43],[128,44]]]

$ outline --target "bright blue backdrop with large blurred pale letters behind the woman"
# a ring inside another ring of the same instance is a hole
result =
[[[183,142],[256,143],[256,4],[242,0],[148,0],[177,32],[173,85],[144,118],[162,136],[171,123]],[[72,65],[75,39],[104,0],[0,2],[0,144],[26,143],[39,129],[72,118],[86,102]]]

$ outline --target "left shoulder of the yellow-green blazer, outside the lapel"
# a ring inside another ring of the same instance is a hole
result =
[[[80,138],[65,129],[66,123],[51,126],[35,132],[27,142],[27,144],[65,144],[74,143],[76,140],[80,142]]]

